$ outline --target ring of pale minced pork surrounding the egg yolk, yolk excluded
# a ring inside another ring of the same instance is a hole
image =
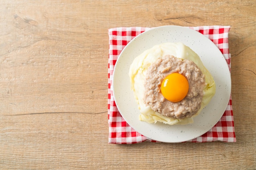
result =
[[[161,93],[162,81],[174,72],[182,74],[189,82],[189,92],[180,102],[171,102]],[[163,116],[177,119],[192,117],[201,107],[204,85],[204,74],[193,61],[166,55],[148,68],[144,83],[144,103]]]

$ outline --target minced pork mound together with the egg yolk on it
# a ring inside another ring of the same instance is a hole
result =
[[[163,116],[191,117],[201,107],[204,85],[204,74],[193,61],[165,55],[148,67],[144,103]]]

